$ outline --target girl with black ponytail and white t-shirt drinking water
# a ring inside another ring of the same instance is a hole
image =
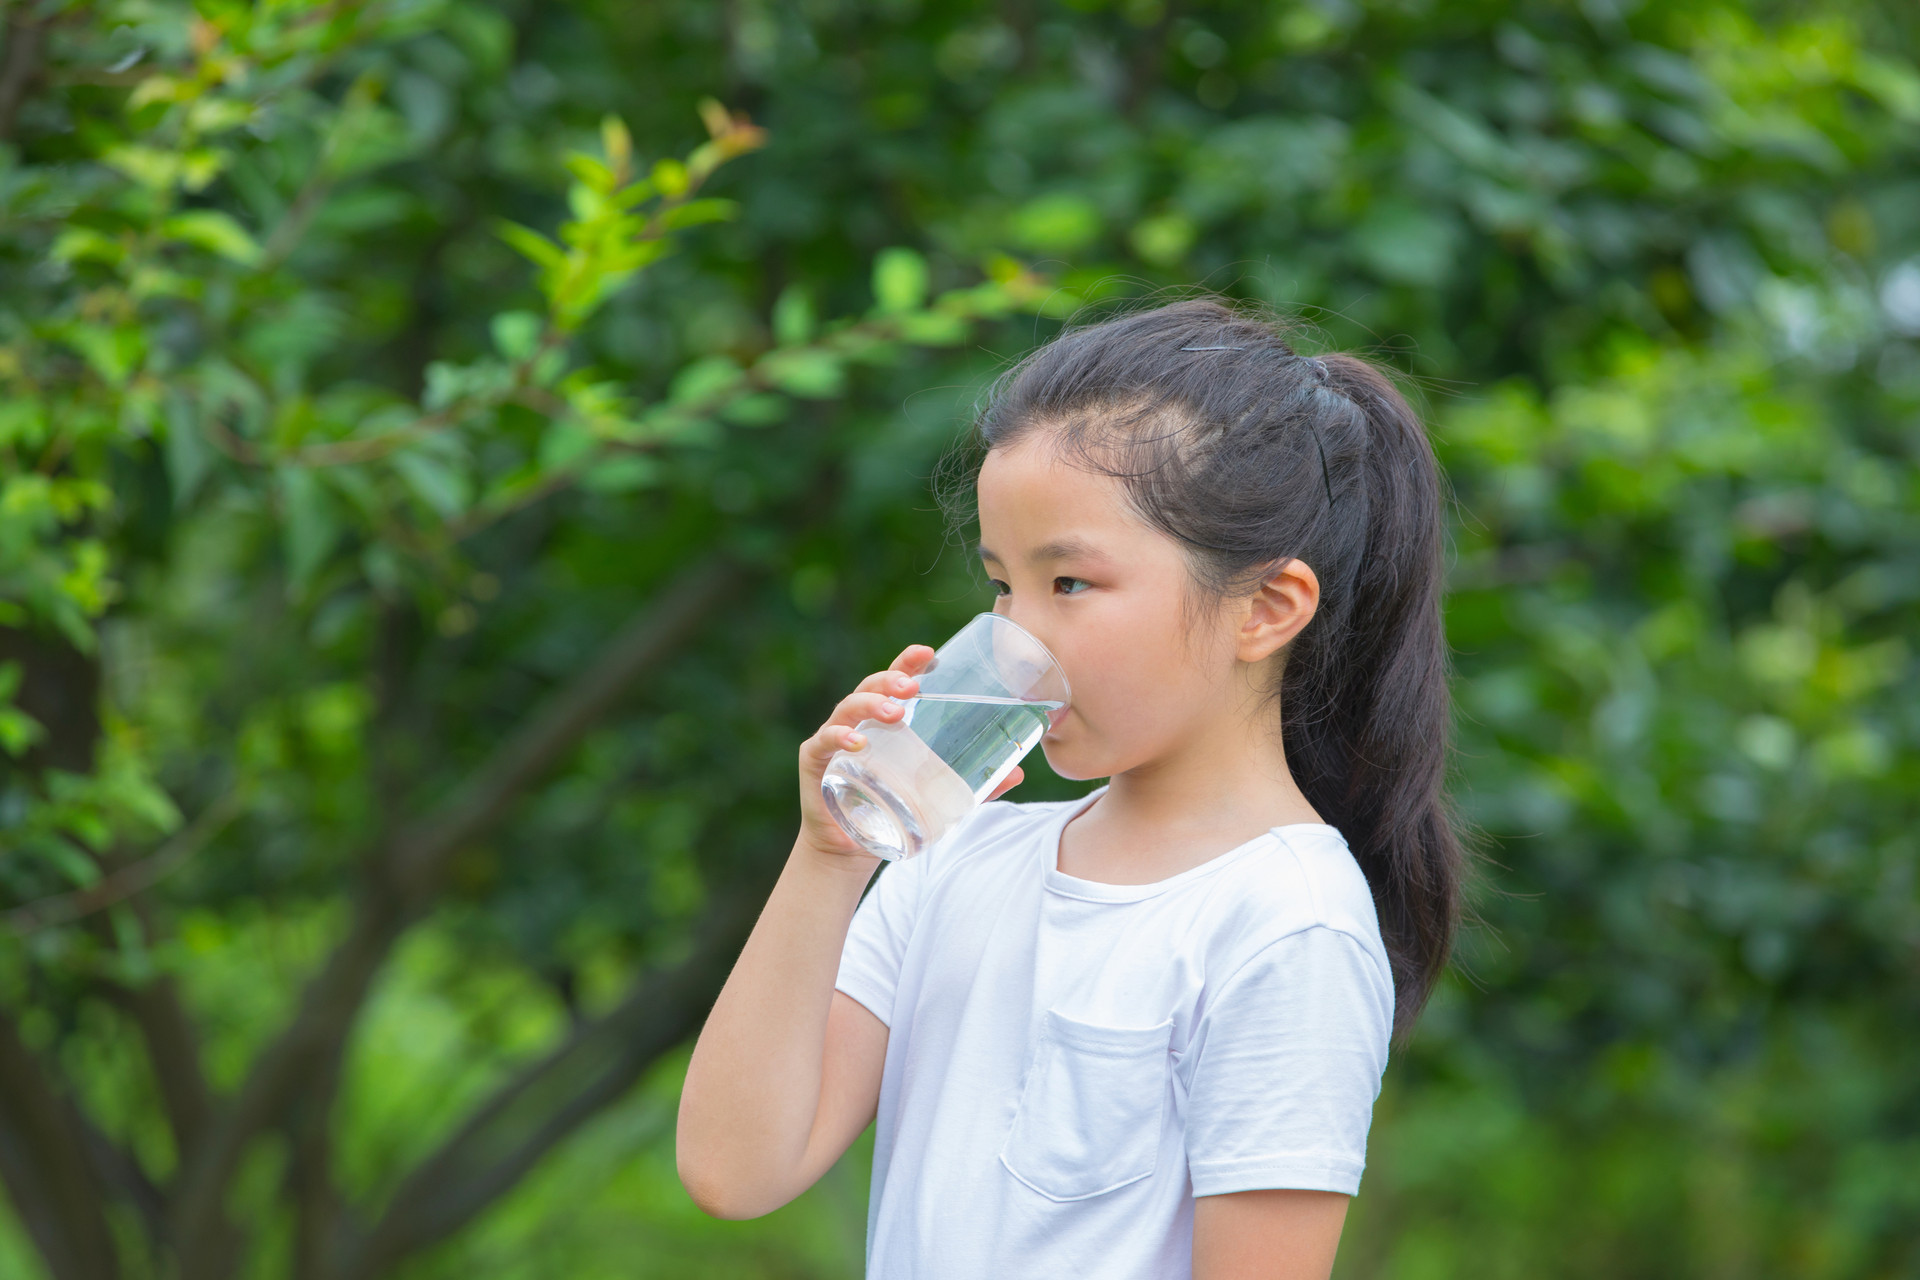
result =
[[[870,1276],[1325,1278],[1455,927],[1432,447],[1217,299],[1066,332],[977,430],[993,606],[1073,685],[1041,748],[1108,783],[991,800],[862,900],[820,775],[933,651],[864,679],[801,747],[682,1182],[768,1213],[877,1115]]]

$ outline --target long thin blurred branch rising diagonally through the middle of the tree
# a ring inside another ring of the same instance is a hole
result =
[[[194,1159],[175,1201],[180,1274],[211,1276],[213,1247],[234,1169],[248,1142],[286,1115],[324,1077],[394,942],[432,902],[447,862],[486,833],[518,794],[566,754],[647,668],[689,639],[726,603],[743,570],[714,555],[687,568],[601,649],[599,656],[536,710],[428,818],[367,858],[348,938],[307,984],[300,1011],[248,1073]]]

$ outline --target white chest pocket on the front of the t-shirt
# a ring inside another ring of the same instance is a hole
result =
[[[1000,1163],[1048,1199],[1102,1196],[1154,1173],[1171,1036],[1171,1019],[1100,1027],[1048,1009]]]

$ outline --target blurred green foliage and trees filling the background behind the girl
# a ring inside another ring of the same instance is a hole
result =
[[[684,1199],[674,1046],[987,604],[975,390],[1206,284],[1457,497],[1490,858],[1340,1272],[1920,1274],[1908,4],[4,21],[0,1272],[856,1274],[864,1148]]]

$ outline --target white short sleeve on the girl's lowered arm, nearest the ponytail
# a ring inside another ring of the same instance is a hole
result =
[[[1356,1194],[1392,1021],[1386,958],[1350,933],[1313,925],[1240,965],[1183,1054],[1194,1196]]]

